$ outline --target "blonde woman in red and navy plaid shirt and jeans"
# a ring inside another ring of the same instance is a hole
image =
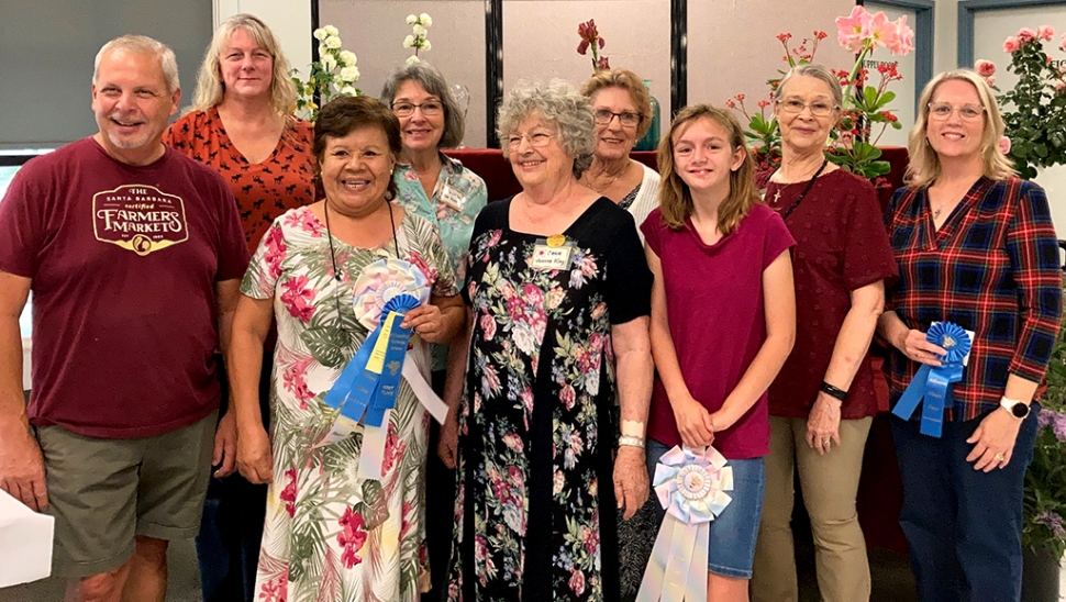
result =
[[[1043,189],[1020,180],[999,147],[1003,121],[984,79],[941,74],[919,107],[911,183],[886,215],[900,268],[878,323],[892,345],[892,403],[922,364],[939,366],[945,354],[925,339],[932,323],[953,322],[974,338],[941,437],[919,433],[921,411],[892,416],[900,524],[921,600],[1018,600],[1034,398],[1062,315],[1055,228]]]

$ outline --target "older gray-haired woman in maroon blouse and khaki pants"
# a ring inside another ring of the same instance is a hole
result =
[[[822,600],[864,602],[870,594],[855,495],[877,413],[866,352],[896,259],[874,187],[825,157],[842,102],[836,76],[803,65],[781,80],[774,105],[781,166],[769,175],[766,203],[796,238],[796,346],[769,389],[770,454],[752,579],[756,602],[799,597],[790,526],[797,467]]]

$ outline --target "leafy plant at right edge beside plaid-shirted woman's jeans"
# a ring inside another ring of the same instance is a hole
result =
[[[1025,473],[1022,542],[1048,547],[1056,558],[1066,550],[1066,328],[1058,335],[1041,399],[1036,447]]]

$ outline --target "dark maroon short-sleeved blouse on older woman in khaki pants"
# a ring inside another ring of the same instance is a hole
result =
[[[806,186],[768,182],[766,202],[788,211]],[[773,416],[806,419],[852,308],[851,292],[895,279],[897,267],[874,187],[843,169],[818,178],[785,225],[796,238],[796,344],[770,384],[769,408]],[[876,413],[874,369],[866,354],[841,406],[841,417],[856,420]]]

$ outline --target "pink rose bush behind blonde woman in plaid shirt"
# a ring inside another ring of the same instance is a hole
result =
[[[1009,156],[1026,179],[1036,176],[1036,167],[1066,163],[1066,66],[1056,66],[1044,52],[1044,42],[1054,40],[1055,30],[1041,25],[1022,27],[1003,42],[1003,52],[1011,55],[1007,70],[1018,76],[1018,83],[997,100],[1011,141]],[[1066,49],[1066,35],[1059,48]],[[991,60],[978,60],[974,69],[995,87]]]

